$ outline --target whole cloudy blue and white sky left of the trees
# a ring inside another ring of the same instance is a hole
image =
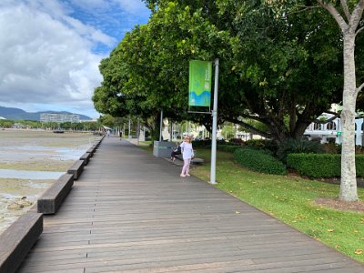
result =
[[[100,116],[98,65],[149,15],[142,0],[0,0],[0,106]]]

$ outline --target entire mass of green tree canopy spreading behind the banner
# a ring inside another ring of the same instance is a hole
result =
[[[100,65],[96,109],[154,121],[163,110],[209,129],[210,116],[187,113],[188,61],[219,58],[220,122],[278,141],[302,136],[341,101],[343,81],[342,35],[324,9],[308,2],[146,1],[147,25],[126,34]]]

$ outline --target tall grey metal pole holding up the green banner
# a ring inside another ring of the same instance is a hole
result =
[[[211,172],[210,172],[210,184],[217,184],[217,182],[216,182],[217,91],[218,91],[218,59],[215,59],[215,85],[214,85],[214,107],[212,109],[212,140],[211,140]]]

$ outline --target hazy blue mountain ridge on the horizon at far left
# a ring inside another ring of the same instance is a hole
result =
[[[19,108],[12,108],[12,107],[4,107],[0,106],[0,116],[5,117],[6,119],[12,120],[40,120],[40,114],[43,113],[50,113],[50,114],[75,114],[66,111],[42,111],[42,112],[25,112]],[[91,120],[92,118],[85,115],[75,114],[78,115],[81,120]]]

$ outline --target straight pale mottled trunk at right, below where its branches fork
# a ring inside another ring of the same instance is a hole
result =
[[[343,201],[358,200],[355,167],[355,108],[356,77],[354,60],[355,35],[344,34],[344,91],[341,150],[341,184],[339,199]]]

